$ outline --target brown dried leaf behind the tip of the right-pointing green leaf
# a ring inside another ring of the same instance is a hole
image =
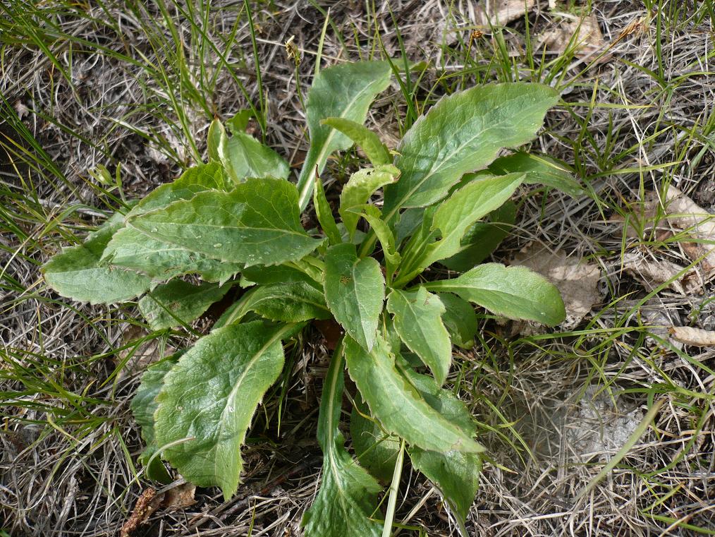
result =
[[[563,329],[570,330],[577,326],[591,311],[593,304],[601,300],[601,292],[598,291],[601,269],[596,263],[537,247],[521,251],[511,264],[538,272],[558,288],[566,306],[566,320],[561,323]]]

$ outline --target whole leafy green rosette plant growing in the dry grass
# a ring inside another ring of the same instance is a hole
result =
[[[558,101],[550,87],[483,85],[443,97],[389,150],[363,122],[391,74],[388,62],[317,74],[307,98],[310,149],[297,183],[240,117],[228,130],[215,120],[207,163],[122,209],[43,267],[47,284],[71,299],[140,296],[154,330],[186,326],[240,286],[208,335],[144,373],[132,409],[149,477],[169,479],[165,460],[230,498],[252,416],[284,367],[284,344],[314,319],[334,320],[344,335],[322,390],[324,463],[306,535],[389,531],[394,503],[386,520],[380,481],[391,479],[397,490],[405,453],[455,516],[467,516],[484,448],[468,409],[443,388],[453,344],[473,344],[475,305],[550,326],[565,315],[557,289],[538,274],[479,263],[513,225],[510,198],[520,185],[574,195],[580,188],[545,156],[516,150],[497,158],[535,137]],[[353,144],[371,166],[344,181],[334,211],[320,174],[332,153]],[[371,202],[379,189],[382,205]],[[302,226],[310,200],[322,231]],[[435,264],[455,277],[424,277]],[[346,367],[358,390],[355,455],[340,430]]]

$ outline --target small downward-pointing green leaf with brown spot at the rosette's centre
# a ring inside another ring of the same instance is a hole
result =
[[[380,263],[359,259],[355,245],[331,246],[325,253],[325,300],[347,334],[363,348],[375,343],[385,300],[385,279]]]

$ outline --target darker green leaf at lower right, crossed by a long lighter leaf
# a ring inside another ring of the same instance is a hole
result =
[[[474,422],[464,403],[451,392],[442,390],[427,375],[418,374],[409,367],[401,367],[405,377],[415,386],[425,400],[441,415],[463,430],[474,434]],[[482,458],[478,453],[449,451],[438,453],[415,446],[408,449],[413,466],[420,470],[440,489],[453,506],[461,521],[465,521],[479,486]]]

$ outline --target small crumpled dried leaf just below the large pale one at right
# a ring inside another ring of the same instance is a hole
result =
[[[623,256],[623,270],[640,280],[649,291],[668,281],[668,288],[676,293],[703,293],[699,274],[691,270],[678,276],[684,267],[672,261],[648,259],[641,253],[628,252]]]

